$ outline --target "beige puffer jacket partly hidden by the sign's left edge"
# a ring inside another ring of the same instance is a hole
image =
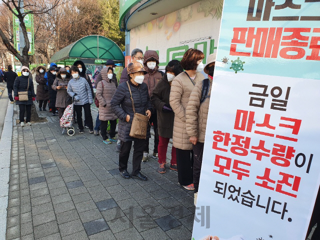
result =
[[[208,118],[212,79],[209,78],[210,87],[207,98],[200,103],[203,81],[198,81],[190,94],[189,103],[185,109],[185,127],[189,137],[198,137],[199,142],[204,142],[206,120]]]

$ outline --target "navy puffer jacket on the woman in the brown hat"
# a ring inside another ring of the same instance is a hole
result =
[[[134,85],[131,81],[130,89],[132,92],[132,98],[134,102],[135,112],[145,114],[146,110],[152,111],[152,105],[148,94],[147,85],[142,84]],[[133,141],[137,138],[129,136],[132,119],[133,119],[133,108],[130,99],[130,92],[126,82],[119,84],[116,88],[112,99],[111,99],[112,111],[119,118],[118,124],[118,139],[121,141]],[[126,115],[130,115],[129,122],[125,121]],[[146,138],[150,137],[150,127],[147,128]]]

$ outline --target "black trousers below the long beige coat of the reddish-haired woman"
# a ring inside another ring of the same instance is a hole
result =
[[[187,186],[193,183],[193,150],[176,148],[176,164],[179,184]]]

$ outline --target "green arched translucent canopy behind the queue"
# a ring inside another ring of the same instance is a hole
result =
[[[106,60],[118,63],[124,62],[124,55],[120,47],[109,38],[89,35],[55,52],[50,62],[73,63],[76,59],[92,59],[94,64],[98,62],[101,62],[98,64],[103,64]]]

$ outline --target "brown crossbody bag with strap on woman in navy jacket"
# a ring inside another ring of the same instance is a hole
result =
[[[132,108],[133,108],[133,112],[134,112],[129,136],[139,138],[139,139],[145,139],[149,117],[146,115],[135,112],[131,88],[130,88],[130,85],[128,82],[126,82],[126,84],[129,87],[130,98],[132,101]]]

